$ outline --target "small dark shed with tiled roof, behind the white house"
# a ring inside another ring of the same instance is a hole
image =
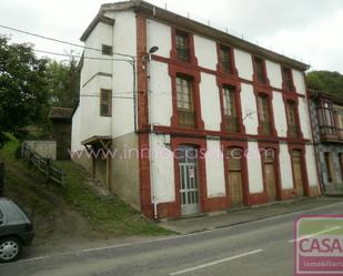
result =
[[[52,139],[57,143],[57,160],[70,160],[71,119],[73,109],[51,108],[49,120],[52,122]]]

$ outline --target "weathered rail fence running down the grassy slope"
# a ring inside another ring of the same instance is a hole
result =
[[[21,144],[21,157],[28,160],[39,172],[46,175],[47,180],[51,180],[60,186],[64,187],[64,171],[54,167],[51,164],[51,160],[40,156],[37,152],[32,151],[27,143]]]

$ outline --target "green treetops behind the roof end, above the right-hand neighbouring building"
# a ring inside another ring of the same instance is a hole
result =
[[[307,88],[343,99],[343,75],[339,72],[312,71],[306,75]]]

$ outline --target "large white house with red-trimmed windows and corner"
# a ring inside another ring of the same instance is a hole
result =
[[[144,1],[101,6],[81,40],[72,151],[115,154],[73,160],[147,216],[320,194],[306,64]]]

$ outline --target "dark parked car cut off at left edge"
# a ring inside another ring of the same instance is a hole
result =
[[[29,216],[11,200],[0,197],[0,263],[17,260],[34,237]]]

